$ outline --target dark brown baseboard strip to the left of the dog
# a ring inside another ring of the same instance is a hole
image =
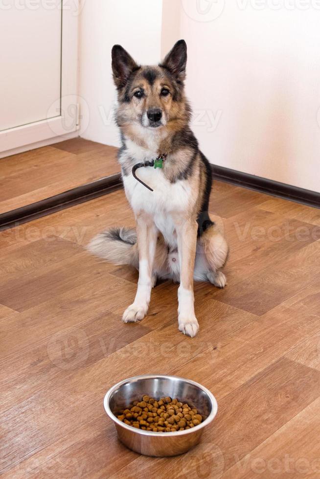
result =
[[[59,195],[22,206],[0,215],[0,231],[20,224],[51,215],[56,211],[106,195],[122,187],[121,174],[113,174],[86,185],[78,186]]]

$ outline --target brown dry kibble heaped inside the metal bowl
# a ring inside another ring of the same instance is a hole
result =
[[[137,429],[161,433],[184,431],[198,426],[203,417],[195,408],[171,397],[161,397],[159,401],[143,396],[142,401],[134,401],[121,411],[117,418]]]

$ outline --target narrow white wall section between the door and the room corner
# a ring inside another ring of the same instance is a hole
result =
[[[79,60],[83,138],[119,146],[112,113],[116,95],[111,48],[121,44],[140,63],[160,61],[161,9],[161,0],[83,2]]]

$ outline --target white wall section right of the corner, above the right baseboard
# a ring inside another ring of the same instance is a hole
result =
[[[199,5],[202,13],[183,0],[172,40],[188,44],[187,93],[202,111],[193,130],[204,153],[220,166],[320,191],[320,1]]]

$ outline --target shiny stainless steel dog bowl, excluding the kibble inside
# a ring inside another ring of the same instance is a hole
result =
[[[172,433],[154,433],[129,426],[116,416],[133,401],[147,394],[155,399],[170,396],[198,410],[205,418],[198,426]],[[204,428],[217,414],[215,397],[206,388],[194,381],[177,376],[134,376],[115,384],[105,395],[104,409],[114,421],[120,441],[127,447],[145,456],[177,456],[198,444]]]

